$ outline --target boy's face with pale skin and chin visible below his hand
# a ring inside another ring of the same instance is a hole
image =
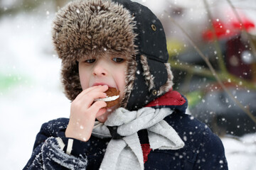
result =
[[[120,100],[124,97],[127,72],[127,60],[125,57],[105,54],[100,57],[85,57],[85,59],[79,60],[78,62],[82,90],[91,86],[107,85],[120,91]],[[108,108],[103,115],[97,117],[97,120],[105,122],[107,115],[118,106],[119,105]]]

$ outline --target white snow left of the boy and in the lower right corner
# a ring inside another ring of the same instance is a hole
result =
[[[41,124],[69,116],[50,40],[52,14],[0,20],[0,169],[22,169]],[[230,170],[256,170],[256,134],[222,140]]]

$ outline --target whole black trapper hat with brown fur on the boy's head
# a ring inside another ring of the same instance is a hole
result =
[[[169,91],[173,76],[164,28],[149,8],[129,0],[76,0],[53,22],[63,86],[73,101],[82,91],[78,60],[85,55],[125,55],[128,67],[121,106],[142,108]]]

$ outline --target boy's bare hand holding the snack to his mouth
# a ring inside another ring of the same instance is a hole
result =
[[[92,86],[82,91],[71,103],[70,121],[65,131],[66,137],[87,141],[90,139],[95,118],[106,112],[105,101],[93,101],[96,98],[105,98],[108,86]]]

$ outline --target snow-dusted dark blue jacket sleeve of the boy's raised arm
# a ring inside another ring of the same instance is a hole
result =
[[[87,142],[68,137],[57,137],[46,131],[43,124],[36,136],[31,159],[23,169],[86,169]],[[53,130],[54,131],[54,130]]]

